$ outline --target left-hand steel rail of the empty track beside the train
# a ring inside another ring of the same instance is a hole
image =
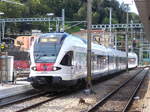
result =
[[[95,112],[99,108],[100,105],[103,105],[105,103],[105,101],[108,98],[110,98],[112,95],[114,95],[117,91],[119,91],[123,86],[125,86],[129,81],[131,81],[132,79],[134,79],[142,71],[143,71],[143,69],[140,70],[140,71],[138,71],[138,72],[136,72],[134,76],[132,76],[127,81],[125,81],[123,84],[121,84],[118,88],[114,89],[113,91],[111,91],[110,93],[108,93],[106,96],[104,96],[101,100],[99,100],[96,104],[94,104],[90,109],[88,109],[87,112]]]

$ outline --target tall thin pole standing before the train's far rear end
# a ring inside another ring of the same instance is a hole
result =
[[[126,17],[126,71],[128,72],[128,24],[129,24],[129,13],[128,13],[128,4],[127,4],[127,17]]]

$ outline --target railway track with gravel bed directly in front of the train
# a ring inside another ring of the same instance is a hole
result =
[[[66,96],[68,94],[72,94],[73,91],[66,91],[66,92],[38,92],[33,94],[33,92],[30,92],[31,94],[24,97],[18,97],[18,96],[12,96],[0,99],[0,111],[9,110],[9,108],[12,108],[12,112],[26,112],[28,110],[31,110],[33,108],[36,108],[46,102],[53,101],[57,98]],[[22,93],[23,94],[23,93]],[[10,98],[10,99],[9,99]],[[32,102],[32,103],[30,103]]]

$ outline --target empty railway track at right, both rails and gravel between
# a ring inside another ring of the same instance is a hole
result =
[[[147,74],[148,70],[146,69],[137,72],[115,90],[97,101],[97,103],[89,108],[87,112],[126,112]]]

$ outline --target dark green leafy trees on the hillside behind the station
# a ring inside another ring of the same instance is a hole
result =
[[[0,2],[0,11],[5,15],[2,18],[27,18],[27,17],[46,17],[47,13],[54,13],[55,16],[61,16],[61,10],[65,9],[66,20],[86,20],[87,0],[14,0],[24,5],[15,5],[6,2]],[[126,7],[119,4],[116,0],[93,0],[92,16],[93,24],[109,23],[109,7],[112,7],[112,23],[126,22]],[[136,14],[131,14],[130,19],[139,20]],[[48,24],[45,23],[17,23],[7,24],[8,27],[18,32],[30,31],[31,29],[40,29],[48,31]],[[6,27],[6,28],[8,28]],[[82,26],[81,26],[82,27]],[[6,30],[7,31],[7,30]]]

